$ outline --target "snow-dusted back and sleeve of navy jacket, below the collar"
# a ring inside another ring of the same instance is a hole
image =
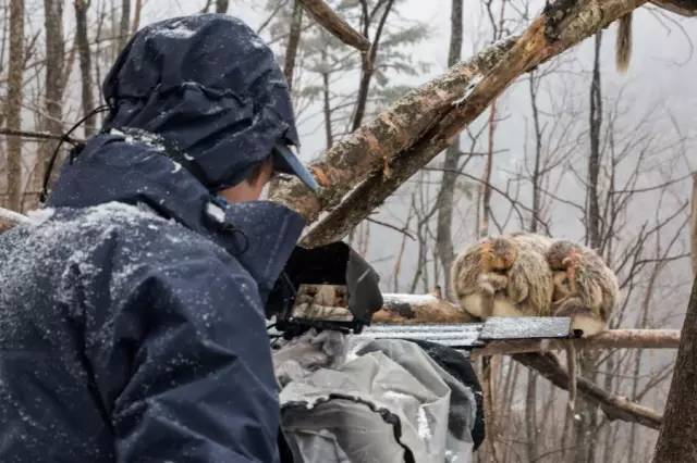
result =
[[[3,235],[0,262],[2,461],[274,460],[262,305],[224,249],[112,202]]]

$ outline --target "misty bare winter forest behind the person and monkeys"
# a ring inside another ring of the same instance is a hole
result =
[[[219,11],[273,47],[309,161],[449,65],[524,30],[545,2],[330,3],[374,43],[374,60],[316,25],[295,0],[0,0],[0,126],[63,133],[101,103],[99,84],[134,30]],[[626,74],[615,71],[611,26],[516,80],[351,232],[384,291],[448,293],[463,246],[528,230],[603,255],[623,291],[612,327],[682,326],[693,281],[697,21],[647,5],[635,11],[633,28]],[[73,136],[94,133],[100,117]],[[36,208],[54,148],[53,140],[0,138],[0,205]],[[608,391],[663,410],[673,362],[673,351],[615,349],[586,356],[583,372]],[[572,414],[565,392],[506,358],[496,373],[496,423],[481,461],[650,461],[656,430],[608,421],[589,405]]]

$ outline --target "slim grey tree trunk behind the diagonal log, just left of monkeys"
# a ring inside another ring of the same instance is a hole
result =
[[[448,53],[448,66],[452,67],[462,55],[463,36],[463,0],[453,0],[450,15],[450,52]],[[453,247],[453,207],[455,183],[457,179],[457,164],[460,163],[460,137],[445,151],[443,164],[443,180],[438,192],[438,226],[436,230],[436,249],[443,266],[443,288],[445,295],[450,295],[450,267],[455,260]],[[448,297],[448,296],[447,296]]]

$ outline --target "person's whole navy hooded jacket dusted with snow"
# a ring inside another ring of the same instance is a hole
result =
[[[138,33],[105,95],[49,208],[0,235],[0,461],[278,461],[264,305],[303,221],[210,191],[296,142],[283,75],[199,15]]]

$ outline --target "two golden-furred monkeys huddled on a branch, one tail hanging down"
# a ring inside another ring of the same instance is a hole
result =
[[[592,249],[536,234],[485,238],[457,256],[451,275],[457,301],[476,317],[568,316],[584,337],[604,330],[619,303],[617,278]],[[573,345],[566,353],[573,410]]]

